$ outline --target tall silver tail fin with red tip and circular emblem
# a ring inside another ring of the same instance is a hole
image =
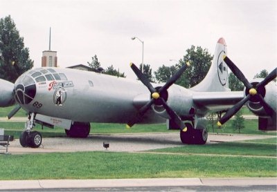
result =
[[[223,38],[218,39],[215,47],[213,63],[206,77],[199,84],[190,88],[195,91],[229,91],[228,66],[223,61],[223,55],[226,55],[226,43]]]

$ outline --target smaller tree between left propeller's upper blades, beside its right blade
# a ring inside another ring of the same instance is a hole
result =
[[[161,66],[157,71],[154,72],[155,78],[159,82],[166,82],[172,75],[177,72],[176,66]]]

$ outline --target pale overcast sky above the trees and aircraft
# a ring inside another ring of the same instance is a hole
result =
[[[114,65],[135,76],[129,63],[152,71],[171,66],[191,45],[214,54],[220,37],[247,78],[277,65],[277,1],[41,1],[0,0],[0,17],[10,15],[35,67],[42,51],[57,51],[58,66],[87,65],[93,55],[103,68]],[[173,61],[170,61],[173,59]]]

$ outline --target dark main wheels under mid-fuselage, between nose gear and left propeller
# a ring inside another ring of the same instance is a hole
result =
[[[73,122],[70,130],[65,130],[68,137],[86,138],[91,131],[89,122]]]

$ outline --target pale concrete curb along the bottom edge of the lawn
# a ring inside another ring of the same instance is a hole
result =
[[[118,180],[2,180],[0,190],[76,189],[140,186],[277,186],[276,177],[267,178],[153,178]]]

